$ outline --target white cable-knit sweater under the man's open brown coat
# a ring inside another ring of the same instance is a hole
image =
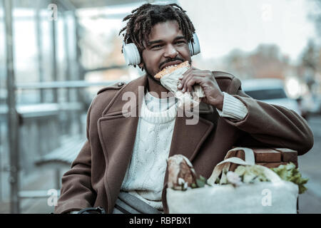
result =
[[[146,93],[138,120],[133,155],[121,185],[121,190],[159,210],[163,210],[161,196],[176,107],[175,98],[158,99]]]

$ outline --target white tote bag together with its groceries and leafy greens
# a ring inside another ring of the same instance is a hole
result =
[[[255,165],[253,151],[241,149],[247,151],[245,161],[229,157],[233,152],[229,151],[208,180],[202,177],[203,187],[168,187],[169,213],[296,213],[297,195],[299,189],[300,193],[306,190],[307,179],[301,177],[295,165],[273,169]],[[234,172],[228,171],[231,162],[240,164]]]

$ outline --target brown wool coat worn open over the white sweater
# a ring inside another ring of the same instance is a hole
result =
[[[249,98],[241,90],[238,78],[228,73],[213,73],[220,89],[240,99],[248,108],[248,115],[242,121],[233,122],[220,118],[215,108],[202,103],[198,124],[186,125],[186,116],[176,118],[170,156],[185,155],[198,174],[209,177],[233,145],[287,147],[297,150],[299,155],[310,150],[313,135],[303,118],[292,110]],[[146,76],[126,85],[104,88],[94,98],[87,115],[88,140],[71,170],[63,175],[56,213],[98,206],[108,213],[113,211],[131,160],[138,124],[138,117],[122,114],[127,103],[122,95],[131,91],[138,98],[138,86],[147,86]],[[138,114],[138,105],[132,111]],[[165,212],[167,178],[166,172],[162,197]]]

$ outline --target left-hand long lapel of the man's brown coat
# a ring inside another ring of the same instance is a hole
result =
[[[138,106],[143,98],[146,83],[146,77],[141,77],[124,86],[103,110],[103,116],[98,120],[99,139],[108,163],[104,175],[108,213],[113,210],[131,160],[138,125]]]

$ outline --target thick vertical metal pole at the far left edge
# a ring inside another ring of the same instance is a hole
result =
[[[6,86],[8,91],[8,133],[10,152],[10,212],[19,213],[19,119],[16,113],[16,87],[14,76],[14,51],[12,38],[11,0],[4,0],[6,20]]]

